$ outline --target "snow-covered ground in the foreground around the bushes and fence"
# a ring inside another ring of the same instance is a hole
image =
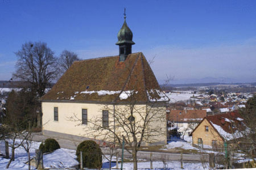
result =
[[[177,143],[176,143],[177,144]],[[184,144],[184,143],[183,143]],[[31,147],[31,158],[35,156],[35,149],[38,149],[40,145],[40,142],[32,142]],[[177,144],[178,145],[178,144]],[[187,144],[188,145],[188,144]],[[183,145],[184,146],[184,145]],[[167,145],[167,147],[171,147],[171,145]],[[190,145],[184,146],[187,149],[190,149]],[[1,154],[5,154],[5,143],[3,141],[0,142],[0,150]],[[11,153],[11,149],[9,148],[9,153]],[[44,155],[44,167],[45,168],[68,168],[73,167],[74,165],[77,165],[78,162],[76,160],[76,151],[75,150],[68,150],[64,148],[60,148],[59,150],[56,150],[52,152],[51,154]],[[102,156],[102,163],[104,168],[109,168],[109,161]],[[112,161],[115,160],[115,157],[113,157]],[[22,147],[16,148],[15,150],[15,160],[11,163],[9,169],[28,169],[28,165],[25,164],[28,161],[26,151]],[[7,163],[9,162],[9,159],[5,159],[0,157],[0,169],[5,169]],[[112,164],[112,168],[115,168],[115,163]],[[118,167],[121,167],[121,164],[118,164]],[[153,162],[153,168],[154,169],[163,169],[164,167],[168,167],[169,169],[181,169],[179,162],[167,162],[164,164],[163,162]],[[203,166],[201,163],[183,163],[184,169],[203,169]],[[32,167],[34,169],[35,167]],[[133,163],[124,163],[123,164],[124,169],[133,169]],[[138,162],[138,168],[139,169],[149,169],[150,168],[150,162],[147,161],[139,161]]]

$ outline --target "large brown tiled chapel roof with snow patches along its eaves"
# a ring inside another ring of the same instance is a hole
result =
[[[122,102],[130,100],[131,90],[139,102],[168,100],[142,53],[129,54],[124,62],[118,59],[113,56],[74,62],[41,100]]]

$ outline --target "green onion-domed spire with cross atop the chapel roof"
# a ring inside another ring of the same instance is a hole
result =
[[[135,44],[133,42],[133,32],[131,32],[131,29],[126,23],[126,8],[123,15],[125,20],[122,28],[118,32],[118,41],[115,43],[116,45],[119,45],[119,61],[125,61],[126,57],[131,54],[131,45]]]

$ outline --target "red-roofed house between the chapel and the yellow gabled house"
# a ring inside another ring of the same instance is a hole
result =
[[[189,135],[194,128],[207,116],[206,110],[171,110],[167,114],[167,120],[172,125],[177,126],[177,131],[181,135]]]

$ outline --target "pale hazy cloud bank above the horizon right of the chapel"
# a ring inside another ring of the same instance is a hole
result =
[[[165,45],[144,50],[143,53],[147,59],[155,56],[151,67],[158,80],[165,79],[167,74],[176,79],[222,76],[256,81],[255,40],[201,48]]]

